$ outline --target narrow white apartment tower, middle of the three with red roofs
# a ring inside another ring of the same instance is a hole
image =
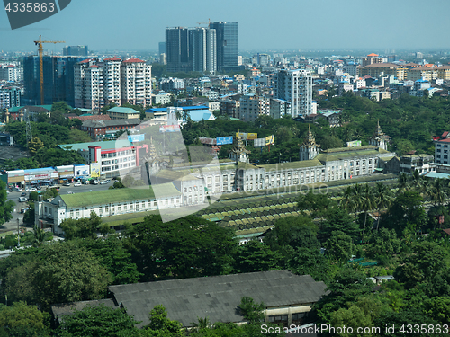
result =
[[[103,59],[103,100],[121,105],[121,58]]]

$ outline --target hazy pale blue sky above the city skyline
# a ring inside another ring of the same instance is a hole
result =
[[[14,31],[2,10],[0,50],[35,50],[39,35],[92,50],[157,50],[166,27],[208,19],[237,21],[239,49],[450,49],[448,13],[449,0],[72,0]]]

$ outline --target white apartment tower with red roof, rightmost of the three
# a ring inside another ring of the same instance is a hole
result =
[[[121,104],[151,105],[151,66],[139,58],[121,62]]]

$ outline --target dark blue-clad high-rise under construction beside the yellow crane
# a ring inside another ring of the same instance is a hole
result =
[[[44,104],[65,101],[75,105],[74,66],[85,57],[42,57]],[[40,104],[40,59],[23,58],[23,104]]]

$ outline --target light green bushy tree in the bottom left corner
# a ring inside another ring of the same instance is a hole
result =
[[[0,336],[47,337],[48,317],[37,306],[15,302],[13,306],[0,305]]]

